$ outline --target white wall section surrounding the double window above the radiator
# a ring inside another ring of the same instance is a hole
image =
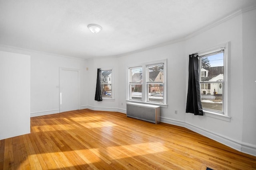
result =
[[[126,102],[126,83],[127,83],[127,68],[134,64],[147,63],[151,61],[160,61],[167,59],[167,104],[168,108],[161,108],[161,121],[182,125],[185,121],[185,43],[175,43],[142,51],[131,55],[126,55],[118,58],[118,82],[119,82],[119,107],[126,109],[126,105],[121,105]],[[174,114],[174,110],[178,114]],[[181,123],[181,124],[180,124]]]

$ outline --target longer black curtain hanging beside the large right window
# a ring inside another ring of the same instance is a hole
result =
[[[201,92],[198,71],[198,54],[189,55],[188,66],[188,96],[186,113],[204,115],[201,103]]]

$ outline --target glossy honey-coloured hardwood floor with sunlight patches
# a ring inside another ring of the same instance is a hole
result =
[[[183,127],[123,113],[69,111],[31,118],[31,133],[0,141],[0,170],[256,170],[256,157]]]

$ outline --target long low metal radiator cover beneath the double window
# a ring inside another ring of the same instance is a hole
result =
[[[157,124],[160,122],[160,106],[128,102],[126,116]]]

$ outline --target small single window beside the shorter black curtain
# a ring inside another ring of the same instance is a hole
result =
[[[101,70],[102,98],[112,99],[112,70]]]

